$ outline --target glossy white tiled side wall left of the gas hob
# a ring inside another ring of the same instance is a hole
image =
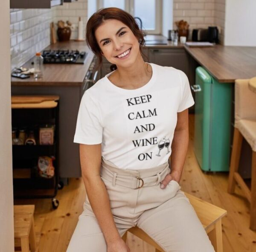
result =
[[[49,27],[55,8],[10,9],[12,70],[50,44]]]

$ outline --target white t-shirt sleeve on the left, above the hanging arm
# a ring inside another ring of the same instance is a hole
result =
[[[87,145],[100,144],[102,131],[100,108],[85,92],[80,102],[74,142]]]

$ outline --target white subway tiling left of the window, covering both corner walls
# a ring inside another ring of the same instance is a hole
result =
[[[83,20],[85,34],[87,0],[64,3],[51,9],[10,9],[11,70],[49,46],[52,21],[57,30],[58,20],[69,20],[73,24],[71,39],[76,39],[79,16]]]

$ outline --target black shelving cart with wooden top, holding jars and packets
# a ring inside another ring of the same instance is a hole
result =
[[[59,205],[57,191],[63,188],[58,167],[58,108],[59,96],[12,96],[12,127],[33,128],[36,140],[36,145],[12,145],[14,198],[52,198],[53,209]],[[40,125],[54,125],[53,144],[39,144]],[[52,177],[38,174],[39,156],[53,158]]]

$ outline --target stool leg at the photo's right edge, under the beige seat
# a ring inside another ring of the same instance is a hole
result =
[[[256,151],[253,151],[252,157],[250,229],[256,230]]]

